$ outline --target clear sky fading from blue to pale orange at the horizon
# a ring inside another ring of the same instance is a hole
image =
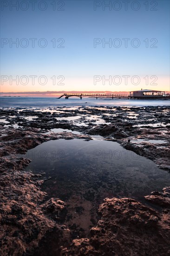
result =
[[[1,1],[0,21],[0,92],[170,90],[169,0]]]

